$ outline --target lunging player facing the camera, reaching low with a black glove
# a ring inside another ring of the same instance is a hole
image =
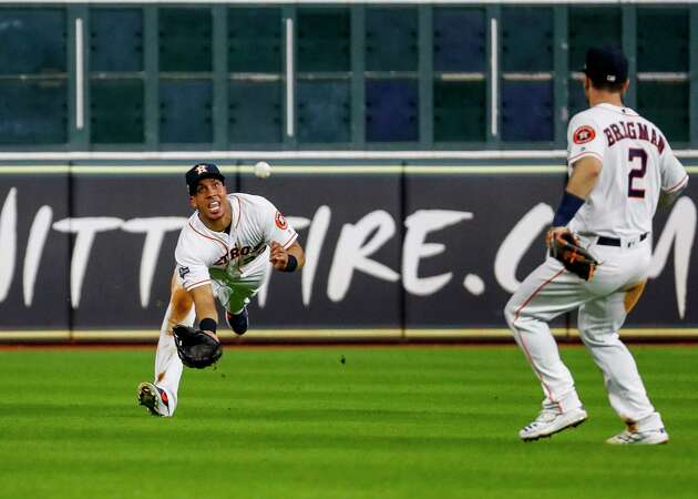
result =
[[[173,329],[194,330],[196,318],[195,333],[207,335],[209,343],[219,346],[217,298],[230,328],[243,335],[248,326],[247,304],[271,267],[297,272],[305,264],[298,234],[269,201],[228,194],[214,164],[193,166],[186,173],[186,184],[196,212],[182,230],[175,249],[176,268],[157,344],[155,380],[142,383],[137,389],[140,404],[155,416],[171,417],[177,407],[183,369],[177,349],[182,342],[175,344]],[[195,346],[194,354],[202,348]],[[220,350],[214,359],[204,360],[215,361],[219,355]]]

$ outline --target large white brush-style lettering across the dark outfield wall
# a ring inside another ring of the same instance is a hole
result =
[[[519,266],[532,246],[534,249],[540,246],[541,261],[543,259],[545,249],[541,241],[541,232],[550,224],[552,217],[551,206],[544,203],[536,204],[506,234],[494,256],[494,277],[502,289],[513,293],[517,288],[520,285],[516,279]],[[309,306],[314,299],[312,289],[317,272],[321,265],[320,258],[324,253],[327,253],[325,244],[332,221],[332,211],[330,206],[321,205],[312,218],[290,216],[288,218],[296,230],[308,230],[304,244],[306,266],[301,274],[301,299],[305,306]],[[440,258],[440,255],[446,251],[444,244],[428,243],[427,241],[438,241],[438,236],[434,234],[438,231],[473,218],[474,215],[471,212],[450,210],[419,210],[407,216],[400,273],[376,259],[376,254],[397,236],[397,221],[390,213],[382,210],[372,211],[356,223],[342,225],[329,267],[327,297],[332,302],[345,299],[351,288],[356,272],[389,283],[399,282],[402,276],[404,289],[415,296],[432,296],[439,293],[453,279],[453,273],[456,272],[456,268],[448,268],[445,271],[450,272],[438,275],[420,276],[419,266],[423,259]],[[18,253],[20,249],[18,246],[18,220],[20,220],[18,191],[12,187],[8,191],[0,212],[0,303],[10,296],[18,255],[22,255],[21,252]],[[164,237],[171,232],[178,231],[186,218],[155,216],[123,221],[116,217],[80,217],[63,218],[54,223],[52,221],[53,210],[51,206],[44,205],[37,211],[29,227],[27,246],[23,252],[21,283],[25,307],[33,305],[35,289],[42,286],[42,265],[50,272],[51,266],[64,264],[64,262],[47,262],[47,258],[43,258],[47,245],[51,244],[51,228],[53,228],[61,233],[75,235],[70,262],[70,295],[71,304],[75,308],[81,302],[84,278],[96,235],[116,230],[145,234],[141,255],[138,291],[141,306],[146,308],[150,305],[153,281],[158,265],[172,259],[172,255],[161,255]],[[674,253],[675,293],[680,318],[686,317],[687,314],[689,266],[695,245],[697,221],[696,204],[689,197],[681,197],[673,206],[661,233],[655,237],[649,277],[656,278],[661,275],[669,254]],[[469,251],[466,242],[466,236],[461,237],[458,249]],[[399,248],[396,249],[396,253],[398,252],[400,252]],[[439,259],[435,262],[438,263]],[[451,259],[449,259],[449,264],[454,265]],[[124,268],[122,272],[135,273],[136,271],[135,268]],[[104,278],[107,279],[109,276],[104,276]],[[484,293],[485,282],[476,274],[468,274],[463,281],[463,287],[472,294],[480,295]],[[95,289],[90,289],[90,293],[94,292]],[[258,298],[259,305],[264,306],[267,298],[267,283],[260,289]]]

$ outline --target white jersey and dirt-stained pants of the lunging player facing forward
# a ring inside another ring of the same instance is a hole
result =
[[[298,234],[266,198],[240,193],[229,194],[227,198],[232,208],[229,233],[206,227],[198,212],[182,228],[175,249],[176,275],[178,285],[187,292],[211,285],[225,309],[237,314],[271,271],[271,242],[286,249]],[[155,357],[155,385],[165,390],[168,399],[170,414],[165,416],[172,416],[176,408],[183,367],[168,327],[171,314],[168,307]],[[192,307],[183,324],[192,326],[195,315]]]

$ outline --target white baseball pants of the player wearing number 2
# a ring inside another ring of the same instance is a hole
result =
[[[635,359],[620,342],[618,330],[637,303],[651,259],[649,237],[624,240],[620,246],[595,244],[596,237],[579,237],[601,262],[586,282],[547,257],[521,284],[504,309],[516,343],[543,387],[543,407],[556,405],[566,411],[582,406],[572,374],[563,364],[547,323],[578,308],[582,342],[602,369],[610,406],[639,430],[664,425],[655,411]]]

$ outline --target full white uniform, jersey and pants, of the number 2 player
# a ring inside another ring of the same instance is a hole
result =
[[[582,406],[547,323],[578,308],[578,329],[603,370],[612,407],[637,430],[664,425],[618,330],[643,291],[651,259],[651,220],[660,192],[679,192],[688,174],[666,139],[628,108],[608,103],[576,114],[567,131],[567,164],[591,155],[603,169],[568,227],[601,262],[589,282],[547,257],[521,284],[504,314],[541,380],[543,407]]]

